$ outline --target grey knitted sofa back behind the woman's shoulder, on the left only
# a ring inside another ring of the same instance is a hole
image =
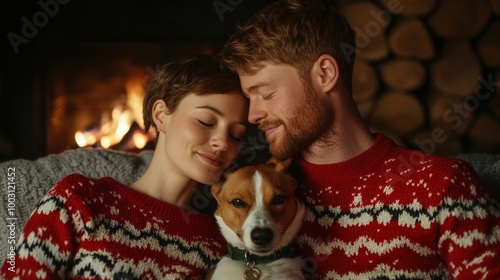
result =
[[[16,218],[15,236],[20,233],[36,205],[65,176],[80,173],[92,178],[113,177],[125,185],[130,185],[141,177],[151,162],[153,152],[144,151],[140,154],[118,152],[110,149],[79,148],[48,155],[37,160],[17,159],[0,163],[0,194],[5,203],[1,203],[0,217]],[[15,172],[12,172],[12,168]],[[15,178],[15,209],[8,209],[7,184],[8,173],[14,173]],[[1,223],[0,223],[1,224]],[[0,226],[2,238],[9,236],[10,230]],[[3,240],[2,240],[3,241]],[[1,260],[3,261],[10,244],[0,242]]]

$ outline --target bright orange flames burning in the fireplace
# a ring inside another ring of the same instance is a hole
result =
[[[112,104],[111,112],[103,113],[98,127],[77,131],[75,141],[79,147],[99,146],[110,148],[120,145],[123,150],[142,149],[154,137],[144,133],[142,100],[143,78],[129,79],[127,94]],[[127,139],[125,139],[127,138]],[[131,142],[131,143],[124,143]]]

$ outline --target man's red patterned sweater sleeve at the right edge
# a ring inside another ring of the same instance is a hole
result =
[[[500,205],[469,164],[461,166],[436,209],[439,254],[455,279],[500,279]]]

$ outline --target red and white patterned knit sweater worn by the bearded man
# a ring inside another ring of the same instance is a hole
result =
[[[307,276],[500,279],[500,206],[470,165],[376,136],[346,162],[296,166]]]

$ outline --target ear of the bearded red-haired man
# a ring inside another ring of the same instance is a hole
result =
[[[321,55],[313,65],[312,80],[322,92],[329,92],[340,78],[337,61],[331,55]]]

